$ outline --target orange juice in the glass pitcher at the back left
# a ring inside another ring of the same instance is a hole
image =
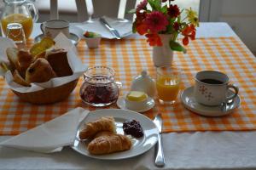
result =
[[[9,23],[20,23],[23,26],[26,39],[31,35],[33,21],[31,16],[26,14],[9,14],[1,20],[3,32],[6,35],[6,28]]]

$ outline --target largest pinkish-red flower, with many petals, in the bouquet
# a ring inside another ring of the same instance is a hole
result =
[[[160,13],[159,11],[154,11],[147,14],[145,24],[148,26],[151,33],[156,33],[159,31],[166,31],[166,26],[169,24],[169,22],[164,14]]]

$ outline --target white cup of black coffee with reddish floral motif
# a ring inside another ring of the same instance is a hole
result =
[[[200,71],[195,75],[195,100],[202,105],[214,106],[234,99],[239,88],[229,83],[230,78],[222,72]],[[233,88],[235,93],[227,96],[230,88]]]

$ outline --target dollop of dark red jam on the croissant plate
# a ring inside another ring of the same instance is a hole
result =
[[[131,134],[135,138],[143,137],[143,127],[137,120],[129,120],[123,123],[123,130],[125,134]]]

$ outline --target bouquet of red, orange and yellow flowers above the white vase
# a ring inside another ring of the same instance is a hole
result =
[[[195,27],[199,26],[199,20],[191,8],[180,9],[173,2],[174,0],[143,0],[137,8],[129,11],[137,16],[132,31],[145,35],[150,46],[162,46],[160,35],[172,35],[168,41],[169,47],[173,51],[185,53],[183,45],[188,45],[189,40],[195,40]],[[178,35],[182,36],[183,45],[177,41]]]

